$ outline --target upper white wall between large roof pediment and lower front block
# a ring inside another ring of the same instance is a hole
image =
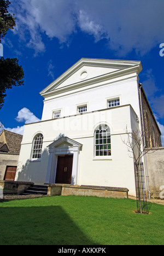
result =
[[[52,119],[52,112],[61,109],[61,116],[77,114],[77,107],[87,104],[87,111],[95,111],[107,108],[107,101],[110,98],[120,97],[120,104],[131,104],[134,111],[139,115],[138,102],[138,81],[137,75],[119,80],[117,82],[103,82],[85,86],[83,89],[71,90],[64,94],[48,97],[44,101],[42,120]],[[97,87],[96,87],[97,86]]]

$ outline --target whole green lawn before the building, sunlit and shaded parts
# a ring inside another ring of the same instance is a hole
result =
[[[0,202],[0,245],[163,245],[164,206],[134,210],[134,200],[98,197]]]

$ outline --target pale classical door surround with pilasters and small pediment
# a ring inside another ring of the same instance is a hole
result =
[[[67,137],[61,137],[51,143],[49,148],[49,162],[46,174],[46,183],[54,184],[56,180],[57,158],[59,155],[73,155],[71,185],[79,184],[79,160],[82,144]]]

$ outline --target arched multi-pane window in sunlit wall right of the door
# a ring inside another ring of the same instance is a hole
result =
[[[95,130],[95,156],[110,156],[111,140],[108,125],[99,125]]]

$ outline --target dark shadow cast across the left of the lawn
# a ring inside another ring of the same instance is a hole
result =
[[[0,208],[0,245],[95,245],[60,206]]]

